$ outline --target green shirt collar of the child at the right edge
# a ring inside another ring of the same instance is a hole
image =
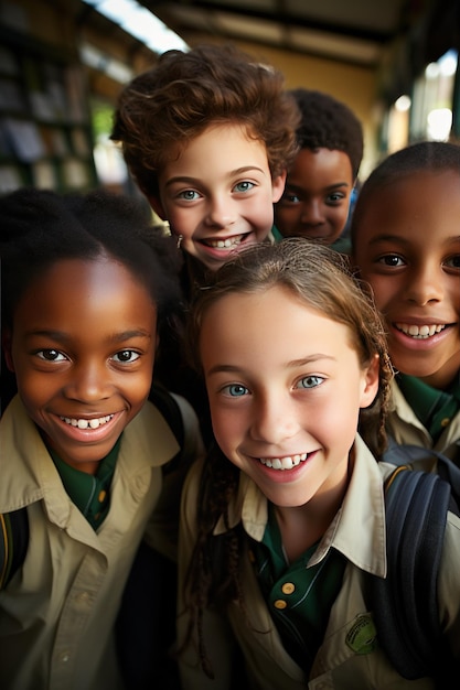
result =
[[[406,374],[398,374],[396,380],[417,418],[437,441],[460,409],[460,376],[446,390]]]

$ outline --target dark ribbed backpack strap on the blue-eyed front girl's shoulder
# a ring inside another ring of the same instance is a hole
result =
[[[435,677],[445,650],[437,604],[450,486],[437,474],[398,466],[385,483],[387,578],[373,578],[382,647],[407,679]]]

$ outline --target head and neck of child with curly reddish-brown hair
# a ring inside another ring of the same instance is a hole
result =
[[[178,238],[186,292],[269,238],[298,121],[282,74],[232,45],[168,51],[121,91],[111,139]]]

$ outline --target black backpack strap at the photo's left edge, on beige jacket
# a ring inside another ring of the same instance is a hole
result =
[[[25,559],[29,545],[26,508],[0,513],[0,590],[4,590]]]

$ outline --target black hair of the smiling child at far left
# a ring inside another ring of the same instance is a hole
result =
[[[0,216],[2,330],[13,328],[22,297],[54,263],[109,256],[146,287],[157,306],[156,376],[169,381],[170,369],[182,356],[183,260],[173,238],[153,226],[143,200],[104,190],[58,195],[22,187],[0,197]],[[15,391],[6,366],[1,384],[4,407]]]

